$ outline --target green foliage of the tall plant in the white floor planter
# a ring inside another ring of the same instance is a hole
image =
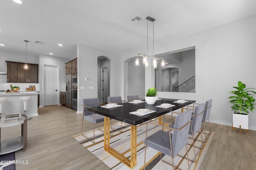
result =
[[[255,99],[254,99],[254,92],[252,89],[255,88],[246,88],[246,85],[243,84],[241,81],[238,81],[238,87],[233,87],[236,90],[230,91],[229,93],[233,94],[234,96],[230,96],[230,103],[232,106],[230,107],[234,113],[249,113],[250,111],[254,111],[255,109]]]

